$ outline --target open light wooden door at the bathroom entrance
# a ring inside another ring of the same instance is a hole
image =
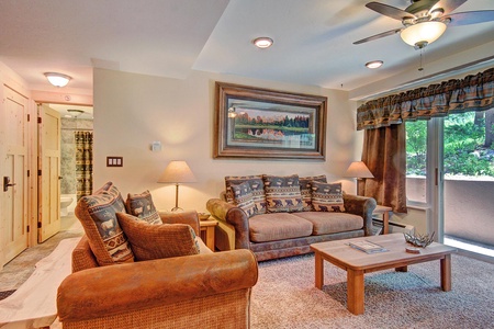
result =
[[[38,230],[43,242],[60,230],[60,114],[38,105]]]

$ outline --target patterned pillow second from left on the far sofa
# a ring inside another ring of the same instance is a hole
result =
[[[269,213],[302,212],[299,175],[262,175]]]

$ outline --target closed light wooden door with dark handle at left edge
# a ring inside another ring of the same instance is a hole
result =
[[[27,99],[2,84],[0,105],[0,268],[27,248]]]

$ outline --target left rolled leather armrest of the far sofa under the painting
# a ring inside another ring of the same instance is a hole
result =
[[[209,200],[206,208],[213,217],[235,228],[235,249],[249,249],[249,218],[243,209],[220,198]]]

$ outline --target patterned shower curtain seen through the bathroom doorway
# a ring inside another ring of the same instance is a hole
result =
[[[75,132],[77,200],[92,194],[92,133]]]

